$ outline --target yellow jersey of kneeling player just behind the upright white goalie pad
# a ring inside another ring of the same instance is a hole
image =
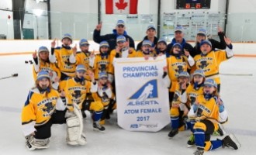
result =
[[[74,81],[74,77],[67,79],[64,86],[64,91],[67,99],[67,108],[71,112],[74,109],[73,103],[78,104],[78,107],[82,108],[81,105],[85,101],[86,94],[88,92],[93,92],[93,90],[92,91],[90,90],[92,89],[92,85],[93,85],[92,82],[86,81],[86,80],[84,81],[83,84],[81,84],[80,82]]]

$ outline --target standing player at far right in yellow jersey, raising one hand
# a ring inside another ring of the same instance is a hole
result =
[[[196,70],[203,70],[206,79],[213,78],[218,84],[217,91],[220,92],[220,75],[219,68],[220,64],[227,59],[230,59],[234,56],[234,51],[232,50],[233,46],[231,40],[227,37],[224,37],[224,40],[227,44],[226,51],[224,50],[212,50],[212,43],[209,40],[203,40],[200,43],[201,54],[198,54],[194,57]]]

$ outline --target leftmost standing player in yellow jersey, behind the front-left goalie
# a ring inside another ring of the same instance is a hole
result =
[[[38,53],[38,56],[37,56]],[[52,87],[57,90],[59,80],[61,78],[61,71],[56,67],[56,64],[50,63],[49,50],[47,47],[39,47],[38,51],[33,53],[33,77],[36,81],[36,74],[40,71],[48,71]]]

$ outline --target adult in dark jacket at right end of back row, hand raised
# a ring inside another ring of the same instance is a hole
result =
[[[200,50],[200,43],[202,42],[202,40],[209,40],[209,42],[212,43],[212,50],[225,50],[227,47],[227,43],[224,40],[225,34],[223,33],[223,30],[220,27],[218,27],[218,36],[220,37],[220,42],[217,40],[208,39],[206,29],[199,29],[195,39],[195,53],[192,53],[191,56],[195,57],[195,55],[200,54],[202,52]]]

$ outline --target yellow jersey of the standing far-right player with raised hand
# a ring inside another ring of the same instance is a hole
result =
[[[206,78],[213,78],[217,84],[220,84],[219,66],[227,59],[227,53],[224,50],[211,51],[206,56],[198,54],[194,57],[195,70],[203,70]]]

